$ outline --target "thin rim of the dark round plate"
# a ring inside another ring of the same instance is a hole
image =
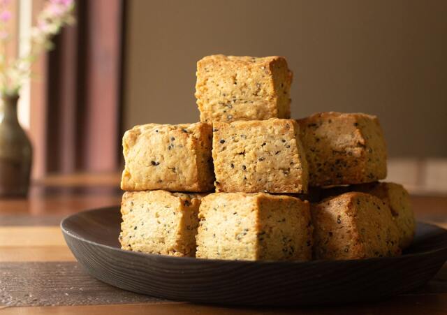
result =
[[[385,261],[385,260],[395,260],[395,259],[402,259],[402,258],[412,258],[417,256],[426,256],[438,253],[440,251],[447,251],[447,244],[444,247],[439,247],[437,249],[431,249],[430,251],[418,251],[416,253],[410,253],[410,254],[401,254],[398,256],[390,256],[390,257],[373,257],[373,258],[362,258],[362,259],[347,259],[347,260],[328,260],[328,259],[317,259],[317,260],[310,260],[310,261],[243,261],[243,260],[230,260],[230,259],[214,259],[214,258],[196,258],[196,257],[178,257],[178,256],[169,256],[169,255],[163,255],[163,254],[150,254],[150,253],[142,253],[138,251],[126,251],[124,249],[121,249],[119,247],[112,247],[107,244],[101,244],[98,242],[94,242],[92,240],[87,240],[85,237],[81,237],[80,235],[76,235],[74,233],[71,233],[66,229],[64,226],[66,224],[66,221],[68,219],[71,219],[72,217],[76,217],[80,214],[86,214],[88,212],[97,212],[97,211],[104,211],[104,210],[119,210],[119,205],[111,205],[106,207],[98,207],[93,209],[88,209],[80,212],[75,212],[72,214],[68,214],[66,217],[61,219],[61,222],[59,224],[62,233],[65,235],[68,235],[69,237],[73,237],[77,239],[80,242],[87,242],[89,244],[92,244],[94,246],[98,246],[101,248],[105,248],[112,251],[120,251],[122,253],[126,254],[136,254],[142,257],[149,257],[149,258],[159,258],[159,259],[176,259],[177,261],[198,261],[198,262],[206,262],[206,263],[233,263],[233,264],[240,264],[240,265],[247,265],[247,264],[256,264],[256,265],[277,265],[277,264],[284,264],[284,265],[300,265],[300,264],[315,264],[315,263],[359,263],[359,262],[374,262],[374,261]],[[430,226],[431,228],[436,228],[439,230],[444,231],[444,233],[447,234],[447,229],[442,228],[441,226],[437,226],[435,224],[423,222],[423,221],[416,221],[416,226],[418,224],[423,224],[425,226]],[[118,237],[117,237],[118,238]]]

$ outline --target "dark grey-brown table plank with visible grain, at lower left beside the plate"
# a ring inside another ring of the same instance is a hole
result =
[[[0,304],[8,306],[100,305],[157,302],[90,277],[75,262],[1,263]]]

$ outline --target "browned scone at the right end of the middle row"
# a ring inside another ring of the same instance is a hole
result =
[[[386,142],[376,116],[321,112],[298,119],[310,186],[375,182],[386,177]]]

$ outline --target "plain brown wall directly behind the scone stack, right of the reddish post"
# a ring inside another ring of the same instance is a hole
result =
[[[292,115],[379,115],[390,156],[447,156],[447,1],[127,1],[124,127],[196,122],[196,61],[284,55]]]

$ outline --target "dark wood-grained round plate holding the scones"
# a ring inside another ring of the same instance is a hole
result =
[[[119,207],[61,222],[78,261],[97,279],[147,295],[226,305],[323,305],[377,300],[429,281],[447,259],[447,231],[418,224],[402,256],[356,261],[218,261],[119,248]]]

